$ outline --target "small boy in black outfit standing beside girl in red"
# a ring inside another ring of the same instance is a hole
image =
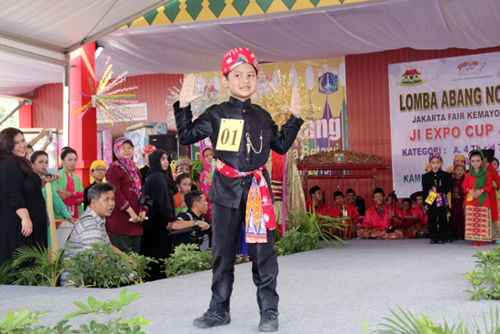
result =
[[[453,242],[453,232],[448,220],[450,203],[446,197],[453,190],[453,178],[450,173],[441,169],[443,157],[438,152],[431,153],[429,163],[432,169],[422,177],[422,187],[424,205],[427,208],[430,243]]]

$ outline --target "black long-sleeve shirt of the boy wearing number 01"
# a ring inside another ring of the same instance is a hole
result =
[[[242,172],[264,166],[271,149],[276,153],[285,154],[294,144],[295,137],[304,123],[303,119],[290,116],[280,131],[264,108],[253,105],[250,99],[243,102],[233,96],[230,96],[227,102],[208,107],[194,122],[191,121],[193,114],[190,106],[181,108],[176,102],[174,110],[177,136],[181,144],[194,144],[205,137],[210,137],[214,147],[214,157]],[[223,118],[245,121],[238,152],[217,150],[217,139]],[[255,150],[257,152],[260,150],[258,154],[254,149],[247,152],[247,135]],[[271,182],[266,170],[263,175],[269,186]],[[239,207],[242,198],[246,199],[251,180],[251,175],[233,178],[225,177],[215,171],[208,199],[224,207]]]

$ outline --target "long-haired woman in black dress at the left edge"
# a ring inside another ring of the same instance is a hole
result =
[[[43,180],[25,159],[26,148],[21,130],[0,132],[0,262],[21,246],[47,247]]]

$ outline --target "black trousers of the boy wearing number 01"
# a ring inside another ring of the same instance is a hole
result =
[[[235,281],[235,259],[238,249],[241,224],[245,221],[246,203],[238,208],[212,204],[212,299],[209,311],[229,312],[233,282]],[[267,231],[267,242],[248,244],[252,258],[252,274],[257,287],[257,303],[262,313],[268,309],[278,310],[276,278],[278,261],[272,231]]]

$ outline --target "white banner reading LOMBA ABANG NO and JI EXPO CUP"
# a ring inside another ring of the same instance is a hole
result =
[[[446,169],[455,155],[500,151],[500,53],[391,64],[389,98],[393,180],[400,196],[422,190],[432,152],[441,153]]]

